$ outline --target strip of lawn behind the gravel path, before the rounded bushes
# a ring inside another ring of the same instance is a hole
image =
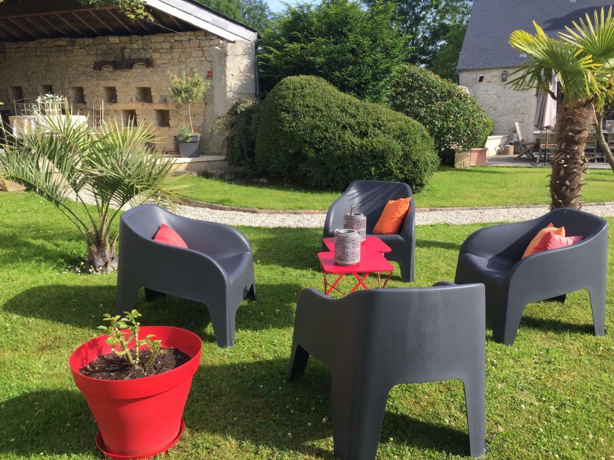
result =
[[[414,196],[416,206],[496,206],[550,202],[550,170],[535,167],[472,167],[467,171],[443,168]],[[186,197],[231,206],[260,209],[328,209],[339,193],[303,191],[295,187],[225,182],[203,177],[180,177],[190,185]],[[586,174],[582,200],[614,201],[612,171],[591,169]]]

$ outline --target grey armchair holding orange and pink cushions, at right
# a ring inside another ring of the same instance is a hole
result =
[[[574,245],[521,259],[537,232],[549,223],[565,226]],[[456,283],[484,283],[492,313],[492,337],[512,345],[524,307],[588,289],[595,335],[604,335],[608,224],[595,215],[557,209],[540,218],[480,229],[465,240],[456,266]]]

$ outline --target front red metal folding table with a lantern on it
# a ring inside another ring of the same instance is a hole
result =
[[[360,286],[365,289],[368,289],[368,286],[365,284],[365,280],[368,275],[371,273],[378,274],[378,288],[385,288],[386,283],[392,277],[392,272],[394,271],[394,267],[392,264],[387,261],[387,259],[381,255],[381,253],[373,251],[373,250],[365,250],[363,248],[360,251],[360,262],[355,265],[344,266],[337,265],[335,263],[335,253],[334,252],[320,252],[317,253],[317,258],[320,261],[322,266],[322,272],[324,272],[324,293],[327,296],[330,296],[333,290],[337,291],[345,295],[343,291],[340,291],[336,286],[341,281],[345,275],[352,274],[356,277],[356,286],[352,288],[350,294],[356,291]],[[386,279],[384,283],[381,282],[380,274],[386,274]],[[336,275],[337,278],[333,283],[329,283],[326,275]]]

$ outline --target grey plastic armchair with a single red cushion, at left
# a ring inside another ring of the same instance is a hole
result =
[[[188,249],[152,240],[162,223],[173,228]],[[123,213],[119,241],[119,312],[133,309],[141,287],[147,299],[162,293],[201,302],[209,310],[217,345],[233,345],[236,310],[247,296],[255,299],[252,248],[241,232],[144,204]]]

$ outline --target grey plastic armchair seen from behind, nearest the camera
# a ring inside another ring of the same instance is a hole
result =
[[[465,386],[471,455],[486,452],[484,308],[483,285],[301,293],[288,380],[310,354],[330,367],[336,458],[375,458],[393,386],[451,378]]]

